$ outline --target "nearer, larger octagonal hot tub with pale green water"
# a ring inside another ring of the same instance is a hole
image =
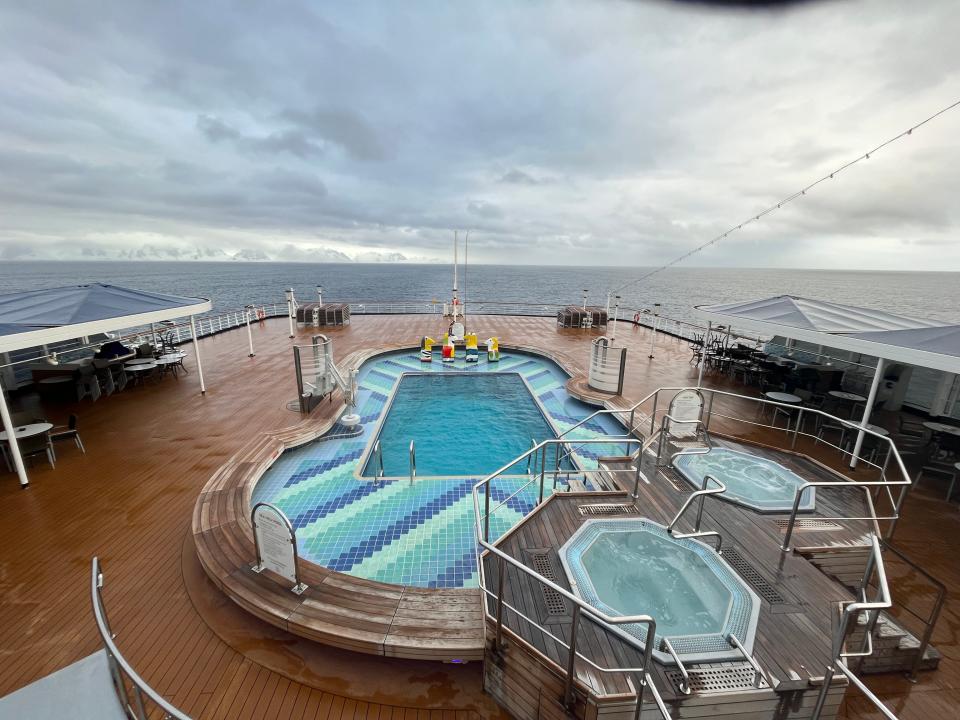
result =
[[[589,520],[560,549],[574,592],[614,615],[651,615],[657,621],[655,656],[667,637],[681,659],[736,658],[733,633],[750,648],[759,616],[756,594],[726,561],[703,543],[672,537],[644,518]],[[646,626],[622,629],[641,641]]]

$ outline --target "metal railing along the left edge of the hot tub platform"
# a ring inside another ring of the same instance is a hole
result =
[[[634,687],[634,691],[637,696],[636,708],[634,711],[635,720],[639,720],[640,714],[643,710],[643,702],[646,693],[649,691],[650,696],[653,698],[654,704],[659,710],[661,716],[666,720],[669,720],[670,712],[667,709],[666,705],[663,702],[663,698],[660,695],[659,690],[654,684],[653,678],[650,674],[650,662],[653,656],[653,651],[656,641],[656,631],[657,623],[656,619],[650,615],[631,615],[624,617],[611,617],[597,608],[589,605],[584,602],[576,595],[571,593],[569,590],[561,587],[557,583],[545,578],[543,575],[539,574],[533,568],[528,567],[524,563],[516,560],[510,555],[499,550],[493,544],[489,542],[489,518],[492,512],[496,511],[496,508],[493,510],[490,509],[490,497],[492,494],[492,484],[493,481],[509,472],[509,470],[516,464],[523,462],[531,455],[534,455],[538,452],[544,453],[546,455],[545,448],[550,445],[557,444],[556,439],[544,440],[543,442],[538,443],[535,447],[528,450],[526,453],[518,457],[513,462],[501,467],[499,470],[488,475],[486,478],[478,482],[473,486],[473,509],[474,517],[476,522],[476,532],[477,532],[477,541],[481,548],[481,553],[483,554],[479,562],[479,571],[480,571],[480,589],[484,595],[484,614],[485,617],[491,620],[495,625],[495,636],[494,636],[494,650],[500,652],[503,650],[503,630],[504,630],[504,613],[509,612],[515,615],[522,623],[526,623],[532,627],[535,632],[542,633],[544,637],[550,638],[553,642],[563,649],[566,653],[566,661],[563,665],[564,667],[564,704],[569,708],[572,707],[575,702],[575,689],[577,685],[576,681],[576,665],[577,662],[585,663],[589,665],[593,670],[601,674],[620,674],[625,675],[628,678],[628,681]],[[604,439],[598,439],[597,442],[606,442]],[[639,440],[634,440],[633,442],[639,443]],[[541,468],[542,470],[542,468]],[[544,474],[541,472],[540,482],[541,482],[541,500],[543,494],[543,477]],[[536,479],[531,482],[536,482]],[[530,483],[527,483],[529,485]],[[524,486],[526,487],[526,486]],[[481,502],[480,494],[483,493],[484,499]],[[519,491],[518,491],[519,492]],[[511,497],[514,497],[514,493]],[[509,498],[508,498],[509,499]],[[503,501],[502,506],[507,501]],[[491,588],[486,579],[486,571],[484,569],[484,557],[485,555],[492,556],[496,558],[497,562],[497,577],[496,588]],[[507,566],[510,566],[520,573],[530,577],[535,582],[544,585],[550,590],[559,593],[565,600],[570,602],[573,606],[573,613],[571,617],[570,625],[570,640],[569,642],[565,641],[563,638],[552,633],[547,627],[539,623],[538,621],[530,618],[522,611],[511,605],[505,600],[504,594],[504,585],[506,582],[506,573]],[[494,609],[491,612],[490,602],[492,601]],[[603,630],[609,632],[614,638],[617,638],[621,642],[630,646],[634,649],[642,658],[642,662],[638,667],[609,667],[599,665],[577,649],[577,635],[580,628],[580,623],[583,618],[595,623]],[[633,637],[632,634],[624,632],[621,629],[621,626],[624,625],[642,625],[646,628],[645,640],[640,642],[637,638]]]

